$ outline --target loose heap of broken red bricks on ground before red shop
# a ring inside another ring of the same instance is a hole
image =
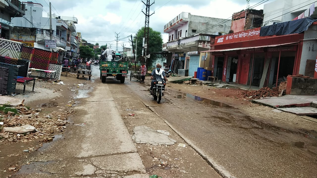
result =
[[[276,91],[276,89],[270,89],[269,87],[263,87],[260,88],[259,90],[247,90],[243,92],[243,97],[244,98],[249,98],[249,99],[260,99],[260,98],[265,98],[265,97],[273,97],[273,96],[278,96],[280,94],[279,91]]]

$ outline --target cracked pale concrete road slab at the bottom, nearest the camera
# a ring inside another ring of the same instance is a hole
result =
[[[100,156],[90,160],[95,166],[103,170],[146,172],[138,153]]]

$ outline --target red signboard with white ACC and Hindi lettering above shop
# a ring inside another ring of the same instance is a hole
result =
[[[260,29],[261,27],[256,29],[244,30],[241,32],[232,33],[228,35],[217,36],[215,38],[215,45],[239,41],[256,40],[260,37]]]

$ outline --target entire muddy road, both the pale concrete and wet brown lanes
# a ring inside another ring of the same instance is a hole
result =
[[[33,164],[13,177],[317,177],[316,124],[316,130],[282,127],[237,108],[185,97],[169,84],[157,104],[149,86],[136,79],[103,84],[95,66],[93,75],[93,90],[77,99],[78,112],[71,118],[84,126],[70,125],[63,137],[29,156]],[[167,130],[177,143],[135,143],[131,136],[138,126]]]

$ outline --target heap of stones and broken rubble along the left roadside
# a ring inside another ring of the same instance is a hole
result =
[[[67,128],[68,114],[75,111],[68,107],[57,106],[60,109],[42,114],[42,109],[28,110],[26,107],[16,107],[20,115],[8,111],[0,113],[0,143],[29,142],[39,139],[40,142],[53,140],[55,132],[62,132]]]

